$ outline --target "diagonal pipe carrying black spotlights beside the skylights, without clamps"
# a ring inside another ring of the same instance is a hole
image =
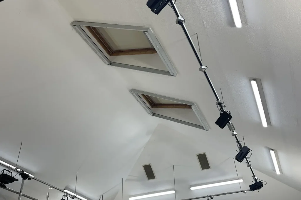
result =
[[[174,2],[173,0],[170,0],[170,4],[171,4],[171,6],[172,6],[172,10],[175,12],[175,15],[176,15],[177,17],[181,17],[181,14],[179,13],[178,8],[177,8],[176,5],[175,5],[175,2]],[[184,20],[184,22],[185,22],[185,20]],[[187,28],[186,28],[186,26],[185,26],[185,23],[181,24],[181,27],[182,27],[182,29],[183,29],[183,31],[184,31],[185,36],[187,37],[187,40],[188,40],[188,42],[189,42],[189,44],[190,44],[190,46],[191,46],[191,48],[192,48],[192,50],[193,50],[193,52],[194,52],[195,57],[197,58],[197,61],[199,62],[200,66],[202,67],[202,66],[203,66],[202,60],[201,60],[201,58],[200,58],[200,55],[197,53],[197,49],[195,48],[195,46],[194,46],[194,44],[193,44],[193,42],[192,42],[192,40],[191,40],[191,37],[190,37],[190,35],[189,35],[189,33],[188,33],[188,30],[187,30]],[[212,84],[212,82],[211,82],[211,80],[210,80],[210,78],[209,78],[207,72],[204,71],[204,74],[205,74],[205,76],[206,76],[206,79],[207,79],[207,81],[208,81],[208,83],[209,83],[209,85],[210,85],[212,91],[213,91],[213,94],[214,94],[216,100],[217,100],[217,101],[220,101],[219,96],[218,96],[218,94],[216,93],[216,90],[215,90],[215,88],[214,88],[214,86],[213,86],[213,84]],[[220,103],[219,106],[220,106],[220,108],[221,108],[222,111],[225,111],[225,109],[224,109],[224,107],[223,107],[223,103]],[[231,122],[229,122],[229,124],[231,125]],[[234,130],[233,130],[233,132],[234,132]],[[239,139],[237,138],[237,136],[235,136],[235,139],[236,139],[236,141],[237,141],[239,147],[242,148],[242,145],[241,145]],[[247,159],[247,157],[246,157],[246,161],[247,161],[247,164],[249,165],[250,162],[249,162],[249,160]],[[254,179],[254,181],[257,182],[257,178],[256,178],[256,175],[255,175],[255,173],[254,173],[252,167],[249,166],[249,168],[250,168],[250,170],[251,170],[251,172],[252,172],[252,174],[253,174],[253,179]]]

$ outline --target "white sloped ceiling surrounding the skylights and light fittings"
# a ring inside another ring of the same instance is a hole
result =
[[[216,89],[222,88],[239,138],[252,148],[256,175],[268,182],[245,199],[300,199],[301,2],[244,0],[247,24],[233,28],[227,2],[176,2],[200,49]],[[168,53],[177,77],[105,65],[70,23],[91,21],[150,26]],[[173,11],[154,15],[146,0],[6,0],[0,3],[0,157],[57,187],[75,188],[96,200],[173,188],[177,199],[240,190],[239,185],[189,190],[189,185],[236,177],[235,139],[214,122],[215,99]],[[249,77],[261,78],[272,127],[263,128]],[[129,89],[196,102],[209,132],[149,116]],[[276,175],[267,147],[278,150]],[[195,154],[206,152],[212,169],[201,171]],[[146,181],[141,165],[152,163],[157,179]],[[251,173],[237,163],[243,189]],[[129,175],[129,176],[128,176]],[[8,185],[19,190],[20,181]],[[298,191],[299,190],[299,191]],[[26,181],[38,199],[61,193]],[[117,196],[115,196],[119,192]],[[243,194],[216,197],[238,199]],[[0,190],[0,199],[16,199]],[[167,196],[166,196],[167,198]],[[170,199],[174,198],[169,196]],[[162,198],[155,198],[160,200]]]

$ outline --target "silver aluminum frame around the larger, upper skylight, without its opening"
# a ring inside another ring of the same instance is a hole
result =
[[[104,24],[104,23],[95,23],[95,22],[79,22],[74,21],[71,25],[75,28],[75,30],[83,37],[83,39],[91,46],[91,48],[96,52],[96,54],[108,65],[115,66],[115,67],[123,67],[133,70],[163,74],[168,76],[177,76],[177,72],[175,67],[172,65],[171,61],[169,60],[168,56],[164,52],[161,44],[157,40],[154,32],[151,30],[150,27],[143,27],[143,26],[131,26],[131,25],[119,25],[119,24]],[[158,70],[152,69],[147,67],[140,67],[135,65],[129,64],[121,64],[116,62],[111,62],[104,53],[98,48],[98,46],[91,40],[88,34],[82,29],[81,26],[90,26],[90,27],[101,27],[101,28],[117,28],[117,29],[126,29],[132,31],[143,31],[147,36],[148,40],[156,49],[158,55],[160,56],[161,60],[163,61],[164,65],[166,66],[165,70]]]

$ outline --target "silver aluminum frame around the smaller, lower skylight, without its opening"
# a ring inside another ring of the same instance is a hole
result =
[[[175,98],[172,98],[172,97],[166,97],[166,96],[163,96],[163,95],[160,95],[160,94],[154,94],[154,93],[144,92],[144,91],[135,90],[135,89],[131,89],[130,92],[136,98],[136,100],[141,104],[141,106],[146,110],[146,112],[148,114],[152,115],[152,116],[162,118],[162,119],[167,119],[169,121],[178,122],[180,124],[185,124],[185,125],[195,127],[195,128],[199,128],[199,129],[206,130],[206,131],[209,130],[209,126],[208,126],[208,124],[207,124],[207,122],[204,118],[203,113],[200,111],[200,109],[197,107],[197,105],[194,102],[175,99]],[[144,95],[148,95],[148,96],[152,96],[152,97],[157,97],[157,98],[162,98],[162,99],[174,101],[174,102],[177,102],[177,103],[184,103],[184,104],[190,105],[192,110],[194,111],[194,114],[197,116],[198,120],[200,121],[200,123],[202,125],[193,124],[193,123],[190,123],[190,122],[187,122],[187,121],[182,121],[182,120],[167,117],[167,116],[164,116],[164,115],[156,114],[147,106],[147,104],[144,102],[144,100],[142,100],[142,98],[140,97],[139,94],[144,94]]]

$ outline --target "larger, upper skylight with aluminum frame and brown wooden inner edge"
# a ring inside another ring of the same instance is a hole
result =
[[[72,25],[107,65],[177,75],[150,27],[77,21]]]

